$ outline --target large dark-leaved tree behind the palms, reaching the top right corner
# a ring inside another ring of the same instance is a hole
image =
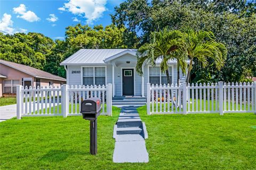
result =
[[[245,0],[127,0],[115,7],[112,20],[117,27],[126,25],[128,31],[139,32],[138,47],[149,43],[150,32],[161,30],[166,26],[171,29],[189,26],[194,30],[212,31],[215,40],[225,44],[228,49],[227,61],[220,71],[196,65],[191,71],[191,80],[204,80],[207,75],[209,77],[207,80],[213,82],[239,81],[242,74],[235,69],[237,76],[234,77],[231,64],[235,63],[236,68],[242,68],[242,72],[246,72],[244,62],[235,61],[237,58],[242,60],[243,56],[247,55],[247,50],[256,43],[255,10],[255,1]],[[211,63],[212,60],[210,59],[209,62]],[[250,69],[253,70],[252,66]]]

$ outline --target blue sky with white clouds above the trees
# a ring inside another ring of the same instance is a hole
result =
[[[0,31],[39,32],[65,38],[65,28],[77,23],[111,24],[110,14],[124,0],[0,0]]]

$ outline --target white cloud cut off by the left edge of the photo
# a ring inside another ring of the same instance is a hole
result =
[[[10,34],[17,33],[17,32],[27,32],[26,29],[22,29],[22,28],[14,29],[12,25],[13,25],[12,16],[10,14],[4,13],[3,18],[0,19],[1,31],[10,33]]]

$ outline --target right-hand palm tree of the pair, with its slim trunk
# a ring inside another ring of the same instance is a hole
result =
[[[194,31],[186,27],[183,28],[183,32],[185,33],[183,42],[185,43],[186,53],[190,60],[186,82],[189,82],[195,58],[203,67],[206,67],[209,64],[209,59],[212,58],[216,68],[220,70],[227,57],[225,45],[215,41],[211,31]]]

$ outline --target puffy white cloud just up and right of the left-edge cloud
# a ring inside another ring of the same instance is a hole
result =
[[[19,14],[17,18],[22,18],[28,22],[39,21],[40,18],[32,11],[27,11],[27,8],[24,4],[20,4],[19,7],[14,7],[13,12]]]

